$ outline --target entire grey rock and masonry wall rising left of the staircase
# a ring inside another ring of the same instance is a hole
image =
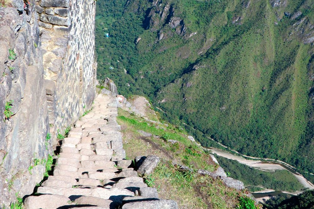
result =
[[[51,153],[47,133],[56,138],[90,108],[97,66],[94,0],[11,5],[0,7],[1,205],[16,200],[16,192],[31,194],[41,181],[45,164],[35,161]]]

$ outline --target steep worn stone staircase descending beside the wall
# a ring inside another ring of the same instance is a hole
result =
[[[175,201],[159,200],[157,190],[129,168],[116,97],[100,94],[94,102],[62,140],[53,175],[24,199],[25,208],[178,208]]]

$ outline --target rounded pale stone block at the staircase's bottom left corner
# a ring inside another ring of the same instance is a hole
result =
[[[28,196],[24,200],[25,209],[56,209],[61,206],[68,206],[70,199],[66,196],[45,194],[40,196]]]

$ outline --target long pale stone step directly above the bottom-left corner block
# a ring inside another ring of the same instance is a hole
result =
[[[117,196],[118,199],[121,199],[121,196],[134,196],[134,193],[128,191],[126,189],[119,189],[119,188],[111,188],[105,189],[101,187],[95,187],[91,189],[87,188],[60,188],[54,186],[40,186],[37,189],[37,193],[39,194],[54,194],[54,195],[62,195],[66,197],[70,196],[94,196],[99,197],[102,199],[111,199]],[[120,196],[120,197],[119,197]]]

